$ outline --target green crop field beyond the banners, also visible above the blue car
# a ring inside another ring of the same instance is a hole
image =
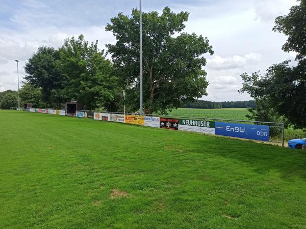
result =
[[[246,120],[245,117],[248,114],[247,108],[222,108],[222,109],[188,109],[177,108],[169,112],[172,116],[188,116],[188,117],[204,117],[215,119],[234,119],[234,120]],[[301,129],[288,128],[285,129],[285,145],[289,139],[304,138],[306,134]],[[281,141],[282,133],[279,129],[278,136],[274,136],[273,140]]]

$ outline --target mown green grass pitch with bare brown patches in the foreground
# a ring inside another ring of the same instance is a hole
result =
[[[305,228],[306,153],[0,110],[0,228]]]

